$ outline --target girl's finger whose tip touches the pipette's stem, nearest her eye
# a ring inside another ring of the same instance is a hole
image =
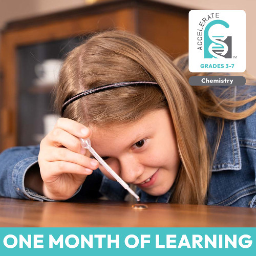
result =
[[[55,151],[52,152],[52,154],[48,155],[48,158],[46,160],[49,162],[66,161],[66,162],[75,163],[93,170],[99,166],[99,163],[97,160],[72,152],[64,147],[56,148]]]

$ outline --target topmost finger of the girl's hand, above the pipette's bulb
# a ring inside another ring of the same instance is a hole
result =
[[[78,138],[87,138],[90,136],[88,127],[69,118],[59,118],[55,124],[55,128],[62,129]]]

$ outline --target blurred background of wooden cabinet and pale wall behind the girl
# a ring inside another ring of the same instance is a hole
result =
[[[52,129],[62,60],[88,34],[125,29],[175,58],[188,52],[191,9],[246,12],[246,70],[255,76],[254,0],[1,0],[0,152],[37,144]]]

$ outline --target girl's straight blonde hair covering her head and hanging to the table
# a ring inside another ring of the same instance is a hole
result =
[[[150,111],[168,108],[181,158],[171,202],[204,204],[212,163],[202,119],[207,113],[202,109],[200,94],[173,61],[150,42],[117,30],[89,37],[70,52],[63,64],[55,92],[56,108],[61,113],[65,100],[91,88],[142,80],[156,81],[159,88],[131,86],[91,94],[70,104],[63,117],[87,126],[106,127],[133,123]],[[217,112],[225,116],[224,110]]]

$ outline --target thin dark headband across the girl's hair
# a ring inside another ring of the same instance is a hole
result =
[[[86,96],[91,93],[98,93],[101,91],[109,90],[112,88],[122,87],[122,86],[137,86],[138,85],[145,85],[145,84],[154,84],[155,86],[158,85],[157,82],[150,82],[150,81],[134,81],[134,82],[117,82],[112,84],[107,84],[106,86],[100,86],[93,89],[89,89],[87,91],[78,93],[77,95],[73,96],[72,98],[66,100],[62,105],[61,115],[63,115],[64,111],[66,110],[67,106],[72,103],[73,101],[80,99],[83,96]]]

